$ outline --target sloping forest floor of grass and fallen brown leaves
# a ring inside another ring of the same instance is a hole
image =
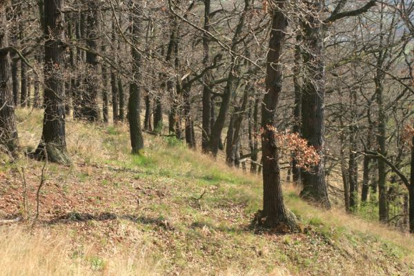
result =
[[[18,110],[18,119],[30,150],[41,113]],[[122,125],[67,128],[74,164],[46,164],[35,224],[0,226],[0,275],[414,275],[408,234],[319,210],[288,185],[286,204],[304,233],[257,232],[249,227],[262,201],[256,175],[150,135],[132,156]],[[42,168],[3,161],[0,219],[24,215],[24,175],[32,221]]]

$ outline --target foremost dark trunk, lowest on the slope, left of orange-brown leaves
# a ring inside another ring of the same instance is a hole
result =
[[[282,45],[288,21],[284,11],[284,1],[273,10],[272,29],[270,31],[269,51],[266,64],[266,95],[262,102],[262,161],[263,161],[263,213],[264,226],[287,226],[296,228],[296,221],[284,205],[282,184],[280,182],[279,150],[275,133],[270,126],[275,125],[275,111],[282,91]],[[262,219],[263,220],[263,219]]]

